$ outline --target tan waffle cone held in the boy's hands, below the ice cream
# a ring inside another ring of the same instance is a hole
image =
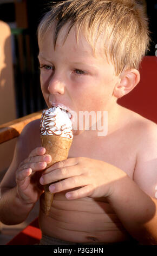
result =
[[[56,162],[66,160],[73,139],[64,138],[56,135],[41,135],[42,147],[46,149],[46,154],[50,155],[52,161],[47,164],[47,168]],[[54,194],[49,191],[49,186],[44,186],[45,214],[49,215]]]

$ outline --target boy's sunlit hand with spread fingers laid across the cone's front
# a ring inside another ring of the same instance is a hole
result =
[[[50,184],[53,193],[71,190],[66,193],[68,199],[83,197],[109,197],[112,195],[115,183],[127,174],[112,164],[75,157],[53,164],[42,173],[40,183]]]

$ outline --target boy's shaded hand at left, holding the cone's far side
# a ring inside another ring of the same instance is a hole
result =
[[[36,203],[43,193],[43,186],[39,182],[40,171],[43,171],[51,161],[51,156],[44,154],[43,147],[32,150],[29,157],[19,164],[17,169],[17,194],[25,204]]]

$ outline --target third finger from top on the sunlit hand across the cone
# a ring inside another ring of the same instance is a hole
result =
[[[65,179],[49,186],[49,191],[52,193],[61,192],[64,190],[70,190],[75,187],[86,186],[87,182],[83,175],[73,176],[69,179]]]

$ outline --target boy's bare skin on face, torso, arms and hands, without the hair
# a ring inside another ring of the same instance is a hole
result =
[[[45,235],[84,243],[130,237],[156,242],[156,125],[116,103],[139,82],[139,71],[125,70],[117,77],[100,47],[94,57],[82,35],[78,45],[74,31],[64,44],[60,35],[56,50],[51,34],[40,44],[45,102],[48,107],[62,103],[76,113],[108,111],[108,134],[75,131],[68,160],[46,169],[51,159],[40,148],[39,120],[27,125],[1,183],[0,220],[21,223],[40,198]],[[45,216],[43,185],[55,181],[55,190],[49,186],[54,202]]]

